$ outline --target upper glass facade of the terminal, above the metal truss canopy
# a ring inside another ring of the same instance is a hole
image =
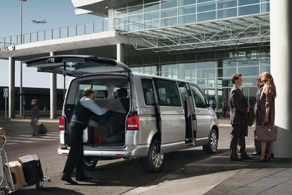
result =
[[[164,27],[267,12],[269,0],[140,0],[109,9],[108,17]],[[142,30],[143,26],[131,28]]]

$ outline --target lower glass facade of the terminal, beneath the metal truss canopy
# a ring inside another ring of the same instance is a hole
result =
[[[254,107],[258,90],[256,78],[270,72],[270,46],[241,49],[194,52],[126,59],[134,73],[159,75],[196,83],[208,99],[215,99],[218,116],[222,116],[222,101],[229,101],[233,87],[231,76],[242,74],[242,90],[248,103]]]

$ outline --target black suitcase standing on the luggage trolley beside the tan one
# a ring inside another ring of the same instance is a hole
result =
[[[22,165],[25,181],[28,185],[37,184],[44,180],[41,161],[35,154],[22,156],[18,158]]]

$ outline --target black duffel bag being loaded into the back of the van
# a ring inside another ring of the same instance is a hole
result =
[[[126,114],[109,111],[109,117],[99,121],[96,134],[101,137],[112,137],[121,132],[126,125]]]

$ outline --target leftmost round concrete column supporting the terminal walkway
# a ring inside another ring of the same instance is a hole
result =
[[[15,58],[9,57],[8,117],[15,118]]]

